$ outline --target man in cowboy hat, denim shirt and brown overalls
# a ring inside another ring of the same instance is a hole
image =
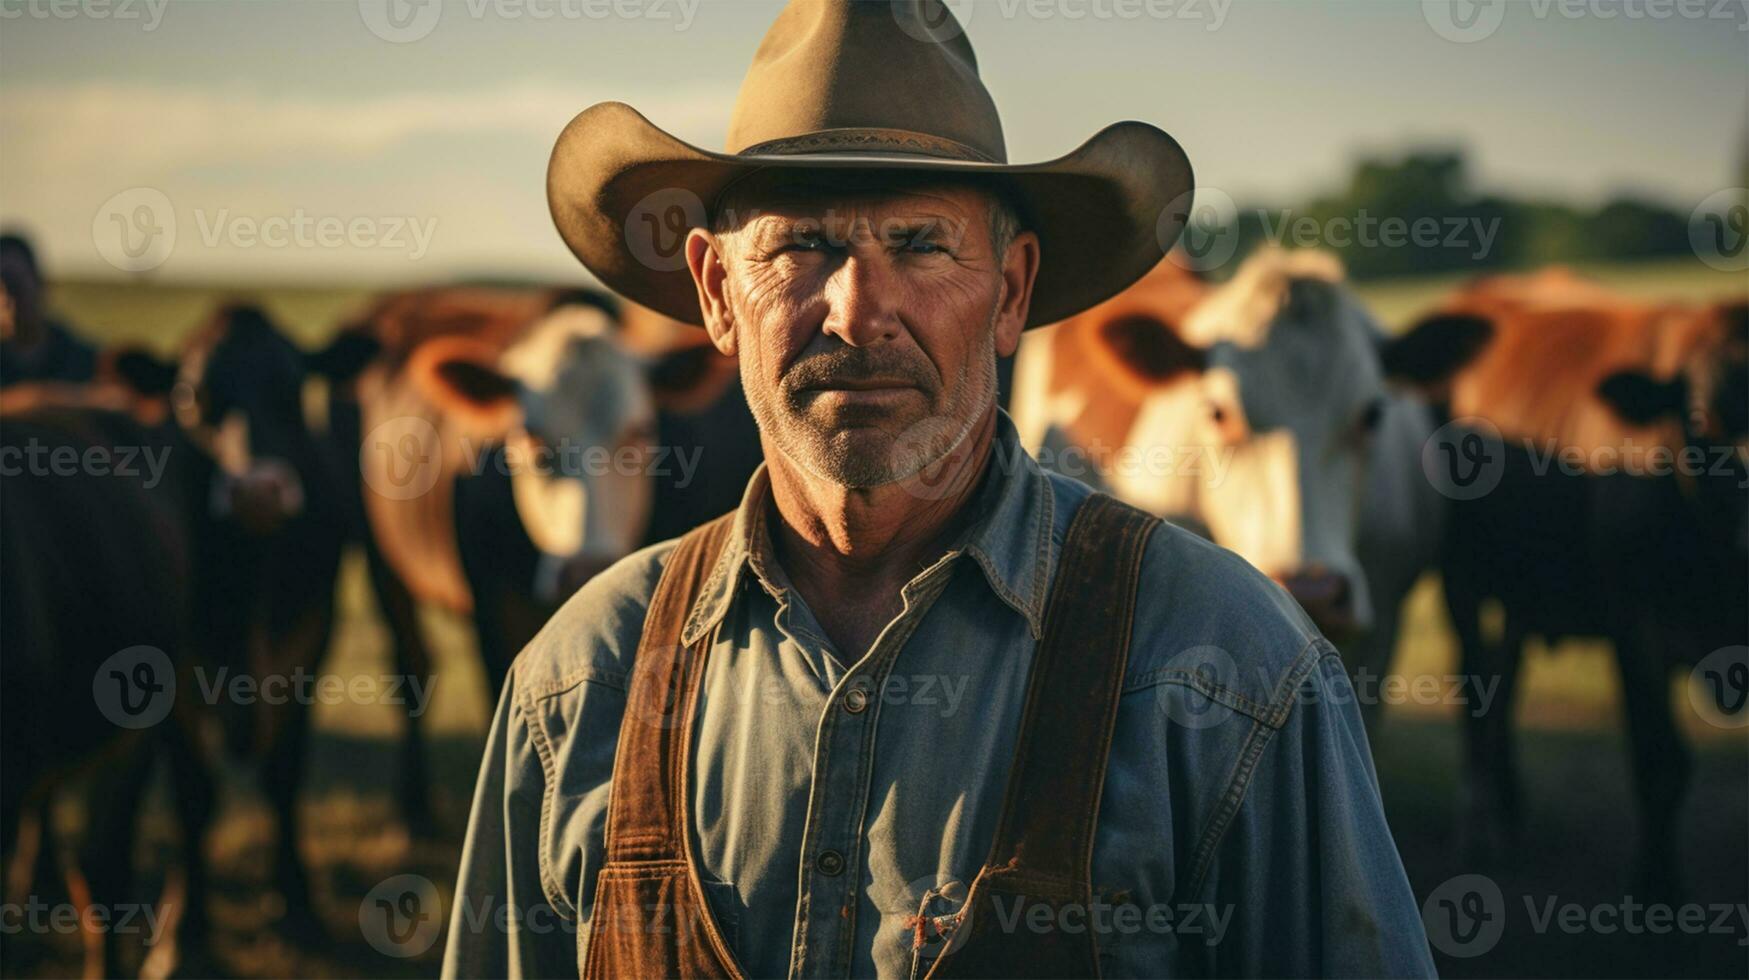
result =
[[[516,662],[446,975],[1431,973],[1334,649],[995,406],[1021,329],[1160,261],[1182,150],[1004,164],[953,28],[794,2],[729,154],[616,103],[560,136],[567,243],[740,357],[766,466]]]

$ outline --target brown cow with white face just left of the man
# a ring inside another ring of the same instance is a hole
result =
[[[359,458],[371,581],[406,676],[430,674],[415,609],[439,606],[472,618],[495,700],[575,588],[731,509],[761,458],[735,360],[595,290],[411,290],[345,332],[381,345],[336,430]],[[404,733],[397,793],[425,831],[415,718]]]

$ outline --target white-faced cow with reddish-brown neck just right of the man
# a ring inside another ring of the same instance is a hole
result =
[[[1399,606],[1439,548],[1420,474],[1424,392],[1487,327],[1387,338],[1322,252],[1266,248],[1209,285],[1167,257],[1137,287],[1021,341],[1014,420],[1046,462],[1202,530],[1273,576],[1383,674]],[[1368,721],[1376,700],[1364,700]]]

